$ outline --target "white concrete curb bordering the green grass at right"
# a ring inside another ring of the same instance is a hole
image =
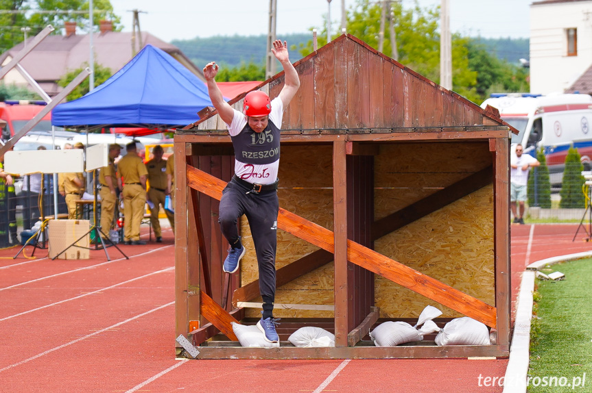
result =
[[[592,257],[592,251],[541,259],[526,266],[526,270],[522,274],[520,292],[518,293],[516,320],[514,322],[514,333],[512,334],[512,345],[510,346],[510,359],[508,359],[508,368],[506,368],[506,375],[504,375],[504,393],[526,392],[528,365],[530,364],[532,292],[534,292],[534,277],[536,272],[545,266],[588,257]]]

